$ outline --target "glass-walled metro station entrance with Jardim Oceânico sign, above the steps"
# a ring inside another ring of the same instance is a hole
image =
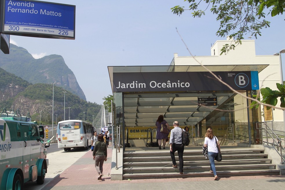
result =
[[[130,147],[145,147],[151,138],[155,141],[159,115],[172,128],[174,121],[181,128],[189,127],[192,146],[204,142],[208,127],[221,145],[259,143],[254,123],[261,121],[261,110],[251,109],[247,97],[259,89],[258,72],[266,65],[211,67],[233,89],[201,66],[108,67],[114,93],[114,132],[118,130],[121,147],[126,142]]]

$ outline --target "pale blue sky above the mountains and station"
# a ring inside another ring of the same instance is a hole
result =
[[[172,14],[173,6],[189,6],[183,0],[46,1],[76,6],[75,40],[11,35],[10,42],[27,49],[35,58],[63,56],[87,101],[98,104],[112,94],[107,66],[169,65],[174,53],[190,56],[176,28],[196,56],[210,56],[211,45],[226,39],[215,35],[219,23],[210,11],[202,18],[193,18],[189,11],[180,16]],[[285,49],[284,15],[266,19],[271,27],[262,30],[258,39],[252,38],[256,55],[272,55]],[[282,60],[285,63],[283,54]]]

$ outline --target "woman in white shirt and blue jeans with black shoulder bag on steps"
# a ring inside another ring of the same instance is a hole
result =
[[[205,141],[204,141],[204,147],[208,147],[208,158],[210,161],[210,166],[211,166],[211,173],[214,173],[214,180],[218,178],[217,173],[216,173],[216,167],[215,167],[215,157],[218,155],[218,148],[217,148],[217,143],[218,147],[220,149],[220,143],[218,141],[218,138],[216,138],[213,135],[213,130],[211,128],[207,129],[207,132],[205,134]]]

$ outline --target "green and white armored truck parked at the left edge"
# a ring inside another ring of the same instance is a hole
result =
[[[0,118],[0,190],[21,190],[28,181],[43,184],[47,173],[48,145],[43,141],[43,126]]]

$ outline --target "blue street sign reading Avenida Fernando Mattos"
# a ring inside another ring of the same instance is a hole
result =
[[[32,0],[2,0],[1,32],[41,38],[75,39],[75,6]]]

